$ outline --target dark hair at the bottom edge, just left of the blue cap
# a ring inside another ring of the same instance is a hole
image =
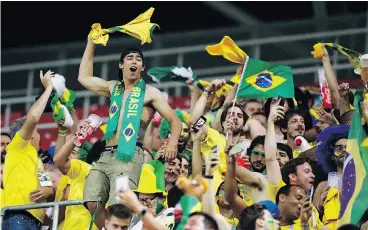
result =
[[[236,227],[238,230],[255,230],[256,220],[263,219],[265,206],[260,204],[253,204],[243,209],[239,215],[239,224]]]

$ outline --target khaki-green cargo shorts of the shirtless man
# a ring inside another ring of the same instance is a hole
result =
[[[115,200],[115,181],[118,176],[128,176],[130,188],[136,189],[144,163],[144,151],[136,146],[132,161],[125,162],[116,160],[117,146],[106,147],[101,153],[96,165],[92,166],[84,184],[84,201],[101,202],[105,205],[116,203]]]

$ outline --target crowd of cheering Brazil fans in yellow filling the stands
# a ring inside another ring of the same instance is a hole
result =
[[[89,40],[78,81],[110,97],[119,83],[92,77],[94,49]],[[368,80],[368,58],[362,57],[360,74]],[[113,130],[112,139],[93,145],[78,144],[83,130],[99,125],[79,121],[73,106],[68,107],[73,125],[56,121],[53,159],[43,160],[36,126],[55,83],[53,72],[41,72],[43,94],[26,117],[1,133],[1,208],[83,200],[84,205],[60,207],[58,229],[368,229],[367,212],[358,224],[338,225],[349,126],[354,110],[368,121],[368,101],[352,106],[349,85],[338,84],[325,48],[321,62],[332,109],[314,104],[298,87],[298,98],[237,100],[234,85],[213,111],[208,106],[213,92],[226,84],[216,79],[205,89],[187,81],[190,109],[172,110],[161,92],[147,85],[128,160],[116,159],[124,138],[119,133],[126,130]],[[119,76],[126,103],[143,70],[139,50],[123,52]],[[121,176],[128,179],[118,180]],[[7,211],[2,229],[51,229],[52,215],[52,208]]]

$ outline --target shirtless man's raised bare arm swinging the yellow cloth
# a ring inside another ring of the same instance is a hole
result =
[[[109,82],[93,76],[93,56],[95,54],[95,48],[96,46],[93,41],[88,38],[87,47],[79,66],[78,81],[88,90],[98,95],[109,97]]]

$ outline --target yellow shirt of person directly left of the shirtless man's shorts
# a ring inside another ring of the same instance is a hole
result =
[[[81,160],[70,160],[70,169],[66,174],[70,178],[70,192],[68,200],[83,200],[84,182],[91,166]],[[83,205],[67,206],[65,210],[65,220],[63,229],[89,228],[91,214]],[[97,229],[94,225],[93,229]]]

